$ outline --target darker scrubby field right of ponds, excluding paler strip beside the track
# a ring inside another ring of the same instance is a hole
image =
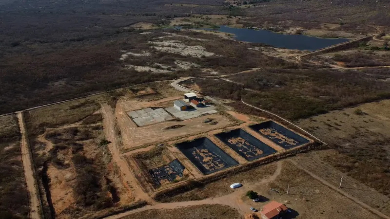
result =
[[[390,101],[383,100],[299,120],[299,124],[329,144],[331,152],[324,151],[320,160],[389,196],[389,107]]]

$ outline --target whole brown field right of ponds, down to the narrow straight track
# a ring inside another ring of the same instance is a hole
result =
[[[344,176],[343,190],[387,215],[389,107],[390,101],[383,100],[300,120],[302,127],[322,136],[329,149],[297,160],[334,185]]]

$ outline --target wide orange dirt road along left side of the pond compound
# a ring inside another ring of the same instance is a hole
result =
[[[104,133],[106,135],[107,140],[111,142],[110,144],[108,144],[108,148],[112,154],[113,160],[116,162],[120,169],[120,173],[122,175],[123,180],[131,188],[132,196],[135,198],[135,201],[144,200],[153,203],[154,200],[150,198],[150,196],[145,193],[141,187],[137,185],[138,183],[136,178],[130,171],[128,165],[126,164],[126,161],[124,161],[120,156],[120,142],[116,133],[116,119],[114,116],[114,112],[107,104],[101,104],[101,113],[103,115]]]

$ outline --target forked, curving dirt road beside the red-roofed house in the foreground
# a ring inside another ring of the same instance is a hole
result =
[[[251,207],[249,204],[244,203],[241,201],[241,197],[245,194],[246,191],[254,189],[256,186],[270,183],[276,179],[277,176],[279,176],[281,170],[282,170],[282,162],[279,161],[276,163],[277,168],[272,176],[251,185],[244,185],[241,188],[235,189],[234,193],[224,195],[218,198],[210,198],[210,199],[204,199],[199,201],[181,201],[181,202],[171,202],[171,203],[156,203],[154,205],[148,205],[142,208],[138,208],[132,211],[124,212],[121,214],[113,215],[110,217],[107,217],[106,219],[120,219],[122,217],[147,211],[151,209],[174,209],[174,208],[181,208],[181,207],[188,207],[188,206],[194,206],[194,205],[203,205],[203,204],[222,204],[222,205],[228,205],[234,209],[236,209],[241,215],[245,216],[246,213],[250,213],[251,210],[249,208]]]

